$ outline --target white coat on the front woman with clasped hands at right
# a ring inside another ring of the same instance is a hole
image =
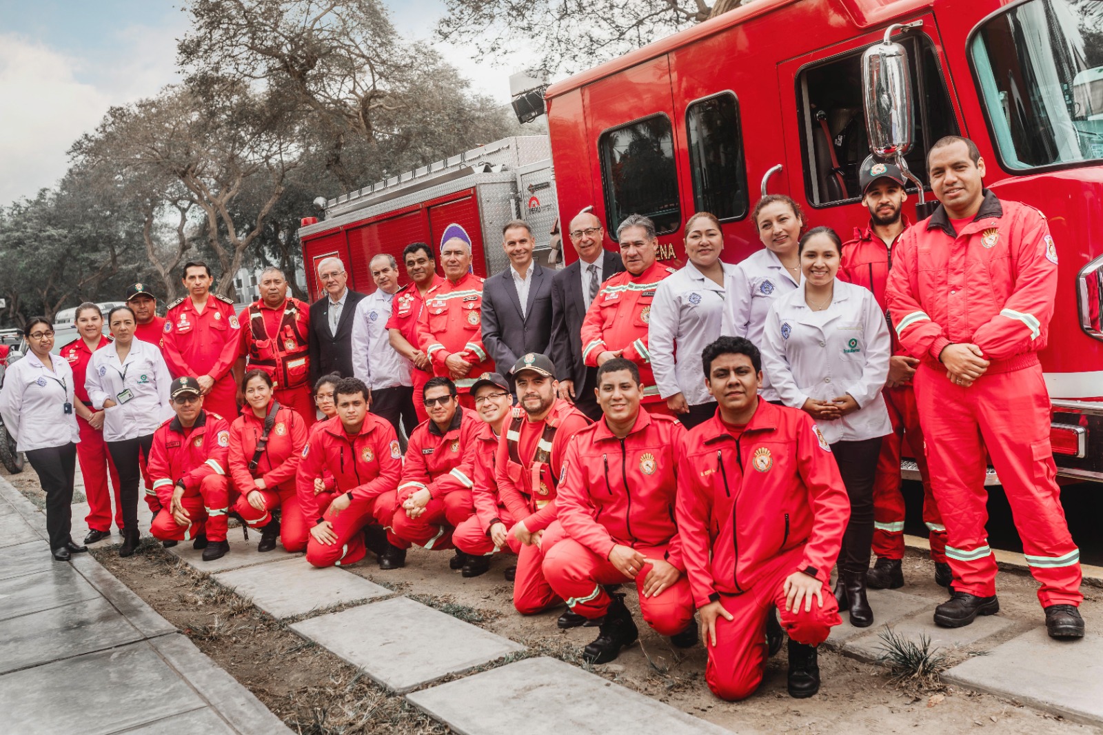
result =
[[[828,444],[858,441],[892,430],[881,388],[889,375],[885,312],[861,286],[835,280],[831,306],[813,311],[804,286],[770,308],[762,343],[762,366],[786,406],[807,398],[829,401],[849,393],[858,411],[835,420],[817,420]]]

